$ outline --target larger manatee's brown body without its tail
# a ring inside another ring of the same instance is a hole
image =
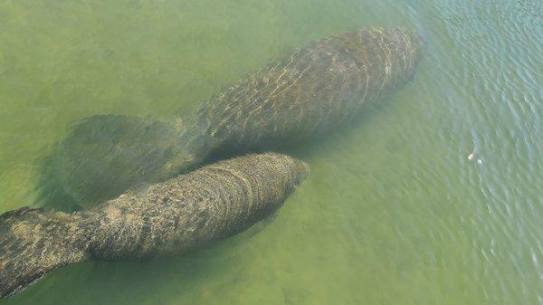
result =
[[[403,28],[323,38],[226,88],[193,124],[236,148],[319,135],[404,85],[422,46],[417,33]]]

